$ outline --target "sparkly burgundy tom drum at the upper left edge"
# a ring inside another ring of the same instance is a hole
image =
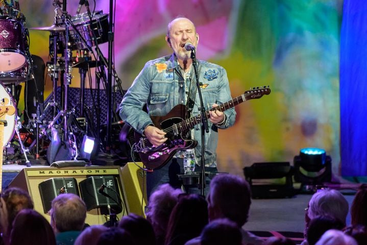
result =
[[[0,81],[23,82],[28,76],[23,24],[10,17],[0,17]]]

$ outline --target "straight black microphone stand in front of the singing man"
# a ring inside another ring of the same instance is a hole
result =
[[[200,90],[198,63],[197,63],[196,53],[194,49],[191,50],[190,57],[191,57],[193,69],[195,72],[196,85],[198,86],[199,99],[200,99],[200,118],[202,119],[202,127],[201,127],[201,178],[199,178],[199,180],[201,181],[200,183],[201,184],[201,195],[205,197],[206,181],[205,181],[205,159],[204,159],[205,147],[204,147],[204,144],[205,144],[205,132],[209,133],[209,126],[208,126],[208,118],[206,117],[206,114],[205,114],[203,96]]]

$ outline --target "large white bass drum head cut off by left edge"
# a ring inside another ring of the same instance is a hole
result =
[[[13,97],[6,87],[0,83],[0,121],[4,124],[4,132],[0,132],[0,136],[3,135],[3,146],[7,145],[14,136],[16,118],[16,106]]]

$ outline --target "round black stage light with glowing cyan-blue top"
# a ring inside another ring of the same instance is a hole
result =
[[[293,159],[295,181],[302,185],[322,185],[331,181],[331,157],[319,148],[303,148]]]

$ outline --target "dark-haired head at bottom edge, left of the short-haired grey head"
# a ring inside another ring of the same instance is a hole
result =
[[[33,209],[23,209],[15,216],[10,244],[56,245],[56,239],[47,219]]]

